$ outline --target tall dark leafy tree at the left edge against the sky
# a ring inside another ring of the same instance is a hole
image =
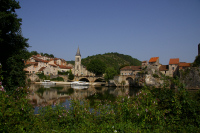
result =
[[[0,0],[0,63],[6,90],[25,85],[24,61],[30,56],[28,39],[21,34],[22,19],[15,13],[20,8],[15,0]]]

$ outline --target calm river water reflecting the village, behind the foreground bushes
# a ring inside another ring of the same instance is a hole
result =
[[[35,114],[38,113],[38,108],[45,105],[62,104],[69,107],[70,100],[75,99],[88,99],[91,101],[95,99],[107,100],[115,102],[117,96],[134,97],[140,90],[134,87],[94,87],[89,86],[88,88],[72,88],[70,85],[42,85],[42,84],[31,84],[30,89],[32,90],[29,99],[35,107]]]

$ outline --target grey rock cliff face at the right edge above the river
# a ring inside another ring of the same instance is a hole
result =
[[[180,81],[186,89],[200,89],[200,67],[180,71]]]

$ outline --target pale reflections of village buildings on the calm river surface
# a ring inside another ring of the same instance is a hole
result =
[[[128,92],[130,94],[130,91],[133,89],[130,88],[108,88],[108,87],[92,87],[89,86],[88,89],[73,89],[71,86],[67,85],[56,85],[57,88],[62,89],[56,89],[56,87],[50,87],[50,88],[43,88],[43,91],[39,91],[44,86],[32,84],[30,89],[33,90],[32,94],[29,96],[29,99],[31,99],[31,102],[35,106],[39,105],[46,105],[46,104],[54,104],[54,103],[61,103],[65,102],[67,99],[85,99],[89,96],[94,95],[95,93],[101,93],[104,95],[105,93],[108,93],[109,95],[113,95],[114,97],[117,96],[127,96]],[[136,89],[137,90],[137,89]],[[135,92],[131,93],[132,94]],[[133,95],[134,96],[134,95]]]

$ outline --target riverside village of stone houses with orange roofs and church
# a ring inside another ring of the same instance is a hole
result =
[[[81,64],[81,54],[79,47],[75,55],[74,65],[68,64],[67,61],[61,58],[50,58],[46,56],[41,56],[40,54],[30,57],[30,59],[26,62],[26,65],[28,65],[28,67],[24,70],[26,71],[27,76],[31,80],[31,82],[38,81],[38,77],[36,75],[38,73],[44,73],[44,75],[48,75],[52,78],[58,77],[58,72],[69,71],[71,71],[72,74],[75,76],[74,81],[86,79],[87,82],[95,82],[99,78],[93,78],[93,80],[89,79],[89,77],[95,77],[95,74],[89,72],[86,67]],[[110,83],[114,86],[121,86],[122,82],[125,82],[123,83],[123,85],[132,86],[138,80],[138,76],[140,76],[142,73],[151,75],[154,74],[154,77],[155,75],[159,74],[169,77],[175,77],[179,74],[180,70],[185,70],[187,68],[190,68],[190,66],[191,63],[180,62],[179,58],[171,58],[169,59],[169,64],[162,65],[159,62],[159,57],[151,57],[149,61],[142,61],[141,66],[125,66],[121,68],[120,75],[115,76],[114,80],[110,80]],[[103,76],[101,77],[101,79],[102,78]],[[146,78],[148,78],[148,75],[146,76]],[[147,84],[148,82],[152,82],[148,80],[149,79],[145,79],[145,82],[147,82]],[[67,76],[64,76],[64,81],[69,81]]]

